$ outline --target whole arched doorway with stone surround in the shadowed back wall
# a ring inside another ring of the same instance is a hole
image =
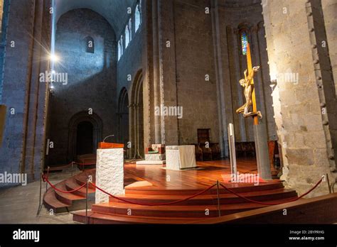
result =
[[[98,143],[102,141],[102,127],[100,116],[90,115],[87,111],[79,112],[70,119],[68,162],[74,161],[77,155],[96,153]]]

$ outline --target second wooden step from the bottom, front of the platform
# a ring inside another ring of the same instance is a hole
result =
[[[289,199],[294,199],[292,197]],[[288,200],[289,200],[288,199]],[[288,201],[287,200],[287,201]],[[282,200],[272,200],[267,202],[284,202]],[[260,207],[267,207],[267,205],[256,203],[240,203],[240,204],[222,204],[220,205],[221,215],[235,214]],[[141,206],[136,204],[109,202],[105,204],[93,204],[92,212],[100,214],[111,214],[119,216],[157,216],[157,217],[193,217],[193,218],[209,218],[218,216],[217,205],[188,205],[188,206]],[[206,214],[206,212],[208,214]]]

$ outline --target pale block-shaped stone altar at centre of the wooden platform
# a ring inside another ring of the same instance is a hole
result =
[[[196,150],[191,146],[166,146],[166,169],[196,168]]]

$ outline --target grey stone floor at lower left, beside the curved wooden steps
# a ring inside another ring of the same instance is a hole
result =
[[[50,182],[55,185],[70,176],[70,170],[51,173]],[[46,192],[46,183],[43,182],[42,188],[42,193]],[[53,215],[44,206],[37,216],[39,195],[39,180],[26,186],[0,190],[0,224],[75,224],[72,214]]]

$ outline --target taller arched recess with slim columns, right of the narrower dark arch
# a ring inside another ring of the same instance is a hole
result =
[[[139,71],[132,84],[130,112],[130,136],[132,158],[144,158],[144,99],[143,75]]]

